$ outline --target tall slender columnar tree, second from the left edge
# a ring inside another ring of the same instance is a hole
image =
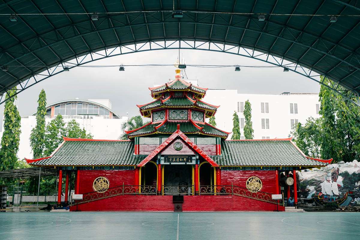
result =
[[[37,103],[36,126],[30,135],[33,158],[41,158],[45,147],[46,94],[44,89],[41,90]]]

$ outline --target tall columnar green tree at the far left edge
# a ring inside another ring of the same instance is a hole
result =
[[[5,96],[5,99],[8,99],[8,101],[6,101],[4,108],[4,132],[1,137],[0,171],[14,169],[18,161],[17,152],[19,150],[21,133],[21,117],[14,104],[17,96],[10,98],[15,93],[16,89],[8,90]]]

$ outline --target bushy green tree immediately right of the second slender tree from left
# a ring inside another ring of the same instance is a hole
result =
[[[59,114],[46,125],[44,156],[50,156],[63,141],[65,135],[65,122]]]

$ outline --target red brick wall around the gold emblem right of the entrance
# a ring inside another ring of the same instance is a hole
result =
[[[221,185],[231,185],[246,188],[246,180],[256,176],[262,181],[260,191],[275,194],[275,171],[221,171]]]

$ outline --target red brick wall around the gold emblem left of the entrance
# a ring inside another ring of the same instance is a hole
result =
[[[134,185],[134,170],[80,170],[79,194],[93,192],[93,183],[97,177],[106,177],[109,180],[109,187]]]

